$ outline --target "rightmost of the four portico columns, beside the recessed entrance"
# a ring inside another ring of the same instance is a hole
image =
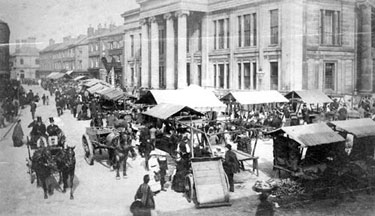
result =
[[[187,86],[187,82],[186,82],[186,75],[187,75],[186,74],[186,37],[187,37],[186,30],[187,30],[187,16],[188,15],[189,15],[189,11],[179,11],[176,13],[176,16],[178,17],[177,88],[184,88]]]

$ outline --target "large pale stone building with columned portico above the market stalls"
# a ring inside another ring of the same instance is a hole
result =
[[[373,0],[137,3],[122,14],[128,86],[373,91]]]

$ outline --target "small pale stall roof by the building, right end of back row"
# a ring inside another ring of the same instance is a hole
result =
[[[291,91],[285,95],[287,99],[299,98],[307,104],[332,103],[333,101],[319,90]]]

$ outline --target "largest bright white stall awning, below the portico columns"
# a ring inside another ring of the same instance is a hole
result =
[[[226,109],[226,105],[212,91],[194,85],[181,90],[150,90],[137,103],[178,104],[191,107],[199,112],[221,112]]]

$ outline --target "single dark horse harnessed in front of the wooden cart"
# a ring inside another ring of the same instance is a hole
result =
[[[126,161],[129,157],[129,152],[132,152],[134,157],[134,150],[131,146],[132,134],[129,132],[120,132],[118,138],[113,140],[114,147],[114,161],[116,169],[116,179],[120,179],[120,167],[123,167],[123,177],[126,177]]]

